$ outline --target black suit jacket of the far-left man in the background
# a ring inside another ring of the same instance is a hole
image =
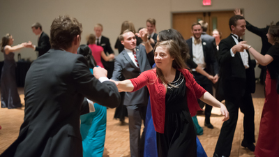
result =
[[[38,57],[45,54],[48,50],[50,50],[50,37],[47,36],[45,32],[40,34],[40,38],[38,40],[38,46],[36,46],[36,51],[39,52]]]

